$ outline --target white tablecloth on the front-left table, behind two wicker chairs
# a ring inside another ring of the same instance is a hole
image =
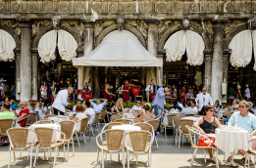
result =
[[[59,124],[33,124],[29,126],[28,128],[33,130],[35,128],[52,128],[54,130],[61,131],[61,126]],[[56,143],[58,140],[60,140],[61,134],[58,133],[57,131],[53,131],[53,137],[52,137],[52,143]],[[33,132],[28,132],[28,138],[27,138],[27,143],[34,143],[36,140],[36,135]]]

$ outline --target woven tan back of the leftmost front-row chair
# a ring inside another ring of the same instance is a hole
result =
[[[28,131],[29,130],[27,128],[10,128],[7,130],[7,134],[13,148],[26,147]]]

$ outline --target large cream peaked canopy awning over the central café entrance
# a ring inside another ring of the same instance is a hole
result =
[[[162,66],[163,60],[151,55],[128,30],[110,32],[89,54],[74,58],[75,66]]]

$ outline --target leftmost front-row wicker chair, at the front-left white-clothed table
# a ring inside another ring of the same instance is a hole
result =
[[[30,150],[30,162],[29,167],[32,166],[32,147],[35,145],[33,144],[27,144],[27,136],[28,136],[28,129],[27,128],[10,128],[7,130],[7,134],[9,137],[9,140],[11,142],[9,147],[9,162],[8,162],[8,168],[10,168],[11,164],[11,151],[13,149],[14,151],[14,162],[15,162],[15,150]],[[31,130],[30,130],[31,131]],[[27,155],[28,158],[28,155]]]

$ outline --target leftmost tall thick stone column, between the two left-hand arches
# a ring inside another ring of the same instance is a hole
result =
[[[22,22],[21,32],[21,100],[31,100],[31,25],[29,21]]]

